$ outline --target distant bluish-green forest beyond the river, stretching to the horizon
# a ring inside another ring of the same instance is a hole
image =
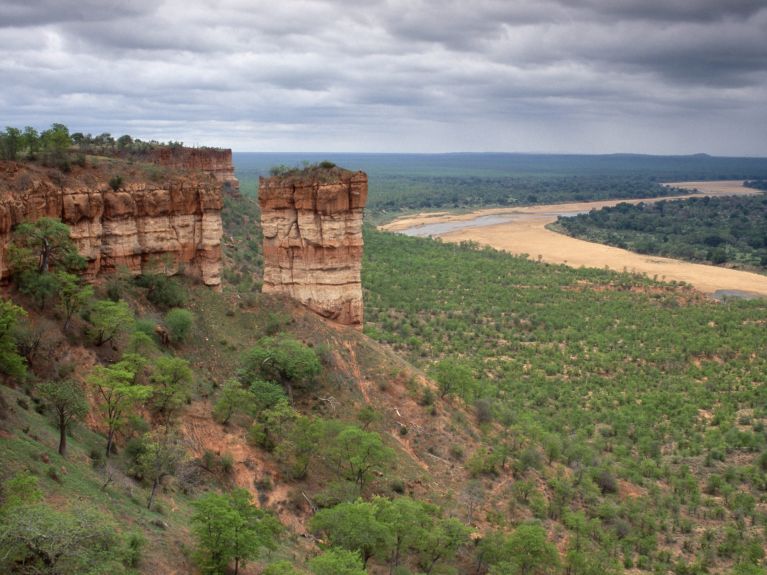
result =
[[[253,154],[235,153],[245,193],[275,165],[323,160],[368,174],[368,213],[562,203],[677,194],[661,182],[764,179],[762,158],[546,154]]]

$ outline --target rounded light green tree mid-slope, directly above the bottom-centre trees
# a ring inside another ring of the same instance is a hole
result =
[[[394,459],[394,450],[377,433],[350,426],[323,448],[323,455],[340,476],[354,481],[362,491],[373,473],[382,472]]]

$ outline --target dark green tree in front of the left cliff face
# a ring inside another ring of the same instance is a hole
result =
[[[14,273],[34,270],[44,274],[51,266],[76,270],[85,264],[69,237],[69,226],[55,218],[19,224],[12,241],[9,259]]]

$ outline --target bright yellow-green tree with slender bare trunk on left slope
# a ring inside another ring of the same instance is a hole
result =
[[[127,413],[134,405],[152,395],[151,387],[135,383],[136,373],[137,368],[131,362],[120,361],[110,366],[97,365],[88,376],[88,384],[101,398],[106,414],[107,457],[112,453],[115,432]]]

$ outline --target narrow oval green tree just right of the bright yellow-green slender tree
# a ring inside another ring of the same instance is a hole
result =
[[[163,355],[152,365],[149,382],[152,385],[150,407],[162,418],[168,429],[171,420],[189,397],[194,382],[192,368],[181,357]]]

